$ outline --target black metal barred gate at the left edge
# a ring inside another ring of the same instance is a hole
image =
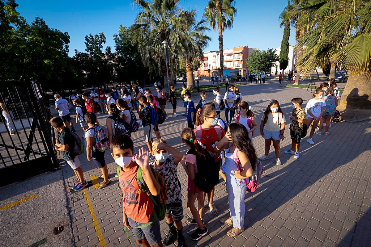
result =
[[[0,186],[59,168],[52,115],[43,99],[33,81],[0,88]]]

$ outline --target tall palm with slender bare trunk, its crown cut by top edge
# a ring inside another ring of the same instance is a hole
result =
[[[209,0],[205,8],[204,17],[210,23],[210,27],[216,30],[218,27],[219,33],[219,52],[220,52],[220,83],[224,83],[223,68],[223,31],[230,29],[233,26],[233,18],[237,14],[237,9],[233,7],[234,0]],[[218,68],[219,69],[219,68]]]

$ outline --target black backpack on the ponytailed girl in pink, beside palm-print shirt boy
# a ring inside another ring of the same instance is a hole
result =
[[[204,192],[209,192],[212,188],[219,183],[219,170],[220,167],[215,163],[214,157],[200,144],[196,143],[199,150],[205,154],[205,157],[198,156],[194,150],[188,150],[187,154],[196,155],[197,170],[195,174],[194,184]]]

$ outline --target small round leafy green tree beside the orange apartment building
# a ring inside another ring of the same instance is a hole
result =
[[[270,71],[272,66],[279,61],[279,56],[276,50],[254,50],[246,59],[246,66],[254,73],[262,71]]]

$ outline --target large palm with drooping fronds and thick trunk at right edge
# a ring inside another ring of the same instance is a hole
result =
[[[371,109],[371,6],[361,0],[302,0],[310,8],[313,25],[298,46],[298,67],[309,74],[330,59],[350,71],[342,108]]]

